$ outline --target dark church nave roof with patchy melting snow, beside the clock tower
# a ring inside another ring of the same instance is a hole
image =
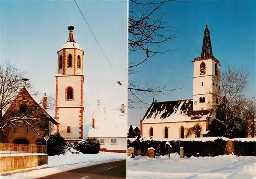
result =
[[[153,101],[148,108],[143,123],[205,121],[212,110],[193,111],[193,100]]]

